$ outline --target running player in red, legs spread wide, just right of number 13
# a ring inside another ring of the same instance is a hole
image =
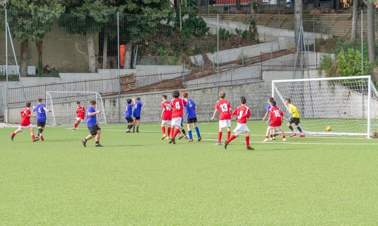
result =
[[[234,130],[234,135],[232,135],[227,141],[224,141],[224,149],[227,149],[227,145],[235,138],[237,138],[242,132],[245,133],[245,142],[247,144],[247,150],[255,150],[254,148],[249,146],[249,129],[247,127],[247,119],[250,117],[250,110],[247,106],[245,106],[246,103],[245,96],[240,97],[240,104],[241,106],[238,106],[234,112],[232,112],[232,115],[237,117],[237,126]]]

